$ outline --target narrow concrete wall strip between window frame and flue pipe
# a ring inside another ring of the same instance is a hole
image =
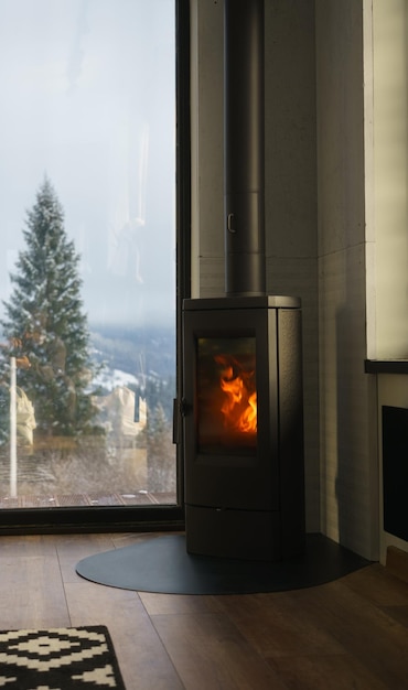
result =
[[[192,297],[223,297],[223,1],[191,1]]]

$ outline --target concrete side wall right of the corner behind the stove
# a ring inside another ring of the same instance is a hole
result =
[[[378,553],[375,381],[366,357],[363,2],[316,0],[322,530]]]

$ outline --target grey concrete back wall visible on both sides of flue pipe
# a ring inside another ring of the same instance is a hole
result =
[[[307,528],[320,529],[314,2],[265,3],[270,293],[302,299]],[[223,2],[192,2],[193,285],[224,295]]]

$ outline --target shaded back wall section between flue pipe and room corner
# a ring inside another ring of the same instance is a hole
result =
[[[265,3],[267,288],[302,300],[307,527],[320,529],[314,2]]]

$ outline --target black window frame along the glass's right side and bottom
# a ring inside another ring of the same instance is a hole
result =
[[[181,308],[191,297],[190,0],[175,0],[176,73],[176,386],[181,391]],[[178,409],[178,406],[174,406]],[[176,424],[175,424],[176,427]],[[180,434],[178,434],[180,435]],[[175,531],[184,529],[182,438],[176,443],[178,504],[6,508],[0,535]]]

